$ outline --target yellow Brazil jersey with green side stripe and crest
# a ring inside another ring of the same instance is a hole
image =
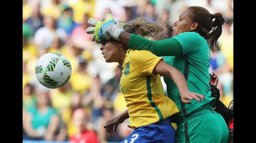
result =
[[[160,75],[152,73],[160,60],[163,58],[150,51],[127,50],[119,87],[128,107],[128,127],[132,129],[179,113],[175,103],[164,95]]]

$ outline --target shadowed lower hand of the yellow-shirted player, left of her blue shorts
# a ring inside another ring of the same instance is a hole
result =
[[[106,132],[109,133],[110,137],[112,137],[114,127],[115,127],[114,132],[116,132],[117,126],[123,122],[124,122],[124,120],[120,119],[119,116],[116,116],[114,118],[109,119],[107,121],[107,123],[105,124],[104,128],[105,128]]]

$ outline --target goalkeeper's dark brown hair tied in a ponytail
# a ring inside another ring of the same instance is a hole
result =
[[[187,9],[190,12],[188,16],[191,18],[192,22],[198,23],[198,27],[196,28],[198,34],[205,38],[212,52],[216,52],[215,50],[219,49],[216,43],[221,36],[222,25],[225,23],[223,15],[221,13],[213,14],[213,18],[215,18],[213,21],[211,13],[201,6],[191,6]],[[212,32],[209,33],[210,31]]]

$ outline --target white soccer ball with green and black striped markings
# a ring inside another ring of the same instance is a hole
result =
[[[35,65],[37,80],[47,88],[59,88],[65,85],[72,73],[69,60],[60,53],[46,53]]]

